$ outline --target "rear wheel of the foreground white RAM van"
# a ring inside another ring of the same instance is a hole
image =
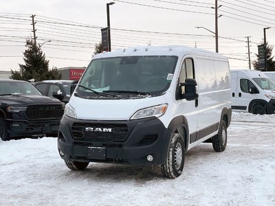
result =
[[[212,137],[212,146],[216,152],[223,152],[228,141],[228,131],[224,120],[221,120],[219,133]]]

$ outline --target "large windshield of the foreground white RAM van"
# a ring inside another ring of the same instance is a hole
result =
[[[78,96],[97,95],[93,91],[160,95],[170,86],[176,63],[177,56],[123,56],[92,60],[79,82],[83,87],[78,87],[76,92]]]

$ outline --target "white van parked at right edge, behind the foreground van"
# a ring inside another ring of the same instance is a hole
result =
[[[231,72],[232,110],[253,114],[274,114],[275,84],[261,71]]]

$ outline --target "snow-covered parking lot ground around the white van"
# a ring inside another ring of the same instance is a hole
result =
[[[0,205],[275,205],[275,115],[232,113],[228,146],[188,151],[184,173],[90,163],[72,172],[56,138],[0,140]]]

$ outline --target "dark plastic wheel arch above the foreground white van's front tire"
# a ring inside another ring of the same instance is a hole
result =
[[[186,117],[183,115],[175,117],[170,121],[168,129],[172,131],[172,133],[177,131],[177,133],[184,137],[185,150],[187,150],[189,145],[189,129]]]

